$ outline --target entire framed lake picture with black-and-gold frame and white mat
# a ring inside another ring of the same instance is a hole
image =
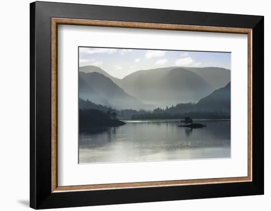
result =
[[[30,4],[30,206],[264,194],[264,17]]]

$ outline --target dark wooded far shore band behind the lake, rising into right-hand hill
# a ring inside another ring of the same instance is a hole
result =
[[[79,99],[80,109],[98,109],[107,111],[109,107],[97,105],[90,101]],[[186,103],[166,108],[157,107],[153,110],[114,110],[118,117],[132,119],[180,119],[189,116],[195,119],[229,119],[231,118],[231,83],[225,87],[213,91],[208,96],[201,99],[197,104]]]

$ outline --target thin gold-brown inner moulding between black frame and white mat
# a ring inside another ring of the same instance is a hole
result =
[[[248,158],[247,158],[247,176],[225,177],[225,178],[207,178],[207,179],[185,179],[168,181],[150,181],[150,182],[129,182],[129,183],[111,183],[111,184],[92,184],[92,185],[72,185],[58,186],[57,181],[57,93],[58,93],[58,73],[57,73],[57,43],[58,43],[58,24],[64,25],[83,25],[100,27],[118,27],[118,28],[137,28],[137,29],[160,29],[160,30],[178,30],[195,32],[217,32],[217,33],[235,33],[247,34],[247,62],[248,62]],[[51,192],[59,191],[80,191],[80,190],[98,190],[98,189],[116,189],[116,188],[134,188],[134,187],[153,187],[153,186],[176,186],[193,185],[206,183],[225,183],[225,182],[244,182],[252,181],[252,29],[245,28],[227,28],[227,27],[206,27],[190,26],[178,24],[158,24],[158,23],[139,23],[124,21],[104,21],[104,20],[84,20],[68,18],[51,18]]]

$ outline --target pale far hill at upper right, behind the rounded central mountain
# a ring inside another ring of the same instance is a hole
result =
[[[202,76],[214,89],[226,86],[231,81],[231,70],[225,68],[186,68]]]

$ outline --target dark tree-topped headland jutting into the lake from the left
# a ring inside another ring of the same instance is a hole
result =
[[[117,113],[111,107],[106,112],[98,109],[79,109],[79,128],[117,127],[125,125],[117,119]]]

